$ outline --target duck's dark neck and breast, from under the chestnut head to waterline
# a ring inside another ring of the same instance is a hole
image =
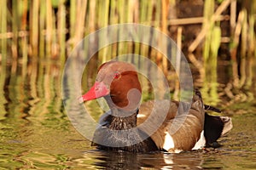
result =
[[[107,100],[107,102],[111,110],[111,115],[106,117],[104,120],[106,122],[104,127],[97,130],[97,133],[100,135],[96,135],[96,138],[94,139],[96,144],[98,143],[97,141],[103,141],[103,145],[98,144],[99,149],[128,150],[132,152],[158,150],[154,141],[148,137],[146,133],[141,131],[139,128],[133,129],[137,127],[138,109],[135,109],[134,111],[126,111],[116,105],[113,105],[109,100]],[[106,127],[111,129],[108,133],[105,131]],[[101,137],[103,137],[103,139]],[[137,141],[137,143],[134,143],[135,141]]]

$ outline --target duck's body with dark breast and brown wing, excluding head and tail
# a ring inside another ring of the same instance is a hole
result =
[[[163,108],[170,105],[168,112],[163,112]],[[189,115],[181,113],[174,122],[177,116],[177,108],[179,105],[188,107],[189,104],[181,102],[172,102],[168,99],[152,100],[143,103],[139,110],[131,116],[119,117],[113,116],[111,111],[105,113],[100,120],[100,126],[96,129],[93,143],[102,150],[128,150],[132,152],[148,152],[156,150],[165,150],[168,152],[179,152],[181,150],[192,150],[198,139],[201,137],[203,130],[204,111],[198,110],[196,105],[193,105],[189,111]],[[154,112],[152,112],[154,110]],[[151,114],[151,116],[150,116]],[[163,117],[165,116],[165,117]],[[149,117],[149,118],[148,118]],[[181,120],[181,122],[178,122]],[[142,125],[146,122],[146,125]],[[161,122],[159,127],[158,122]],[[177,130],[174,126],[176,123],[180,126]],[[126,130],[138,127],[137,130],[126,133],[119,130]],[[105,129],[113,129],[112,133],[108,133]],[[172,131],[177,131],[172,133]],[[106,135],[107,134],[107,135]],[[125,138],[122,138],[125,135]],[[180,138],[183,139],[180,139]],[[131,141],[139,140],[137,144],[130,143]],[[105,144],[105,145],[102,145]],[[106,145],[115,144],[117,147],[108,147]],[[125,145],[125,147],[123,147]]]

